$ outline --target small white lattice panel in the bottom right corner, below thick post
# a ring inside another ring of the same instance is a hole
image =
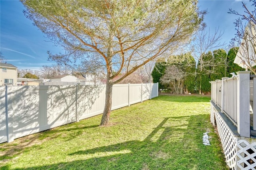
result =
[[[237,167],[242,170],[256,170],[256,142],[237,142]]]

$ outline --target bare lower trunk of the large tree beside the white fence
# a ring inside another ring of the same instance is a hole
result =
[[[111,112],[111,107],[112,107],[112,87],[113,87],[113,82],[112,80],[107,80],[106,83],[106,101],[105,101],[105,107],[103,111],[103,115],[101,118],[100,125],[105,126],[108,125],[108,121],[110,118],[110,112]]]

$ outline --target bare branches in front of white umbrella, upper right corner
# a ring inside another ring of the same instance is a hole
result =
[[[256,70],[256,0],[252,2],[253,10],[250,11],[244,2],[244,14],[239,14],[235,10],[230,9],[230,14],[235,14],[239,18],[235,22],[236,36],[230,42],[232,47],[239,47],[234,63],[237,63],[242,68],[250,69],[254,74]]]

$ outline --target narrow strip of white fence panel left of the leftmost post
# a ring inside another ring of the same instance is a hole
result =
[[[6,141],[5,86],[0,86],[0,143]]]

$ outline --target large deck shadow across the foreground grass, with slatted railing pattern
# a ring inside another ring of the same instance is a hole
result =
[[[74,161],[29,169],[226,169],[221,149],[202,144],[208,118],[209,115],[166,117],[143,141],[79,150],[66,155]]]

